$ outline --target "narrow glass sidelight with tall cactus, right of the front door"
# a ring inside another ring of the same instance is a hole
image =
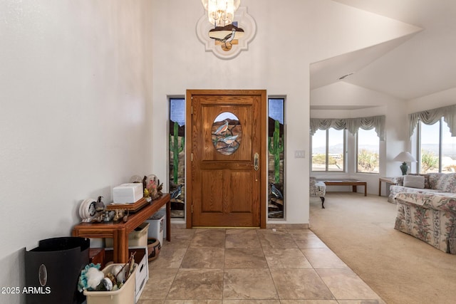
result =
[[[284,218],[284,98],[268,100],[268,217]]]

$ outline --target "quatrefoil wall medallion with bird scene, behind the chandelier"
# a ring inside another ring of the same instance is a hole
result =
[[[247,14],[246,7],[239,7],[234,13],[233,23],[227,26],[217,26],[207,21],[204,14],[197,22],[197,36],[207,52],[213,52],[222,59],[231,59],[241,51],[249,49],[249,42],[257,33],[257,25],[252,16]]]

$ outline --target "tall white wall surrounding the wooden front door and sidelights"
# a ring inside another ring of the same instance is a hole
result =
[[[154,2],[152,169],[158,177],[167,177],[167,95],[234,88],[285,95],[285,222],[309,223],[309,158],[294,158],[295,150],[306,150],[309,156],[309,65],[415,28],[328,0],[244,0],[242,6],[256,21],[257,34],[248,51],[222,60],[204,52],[197,39],[202,6],[185,0]]]

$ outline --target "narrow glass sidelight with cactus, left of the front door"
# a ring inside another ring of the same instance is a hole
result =
[[[171,217],[185,217],[185,99],[170,98]]]

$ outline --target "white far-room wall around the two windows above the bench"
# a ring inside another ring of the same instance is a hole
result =
[[[313,118],[354,118],[385,115],[385,141],[380,142],[380,168],[378,174],[356,173],[356,141],[348,134],[347,150],[349,158],[347,170],[336,174],[337,177],[360,179],[368,182],[368,194],[378,194],[378,178],[400,175],[398,162],[392,159],[404,151],[408,134],[408,122],[405,114],[405,100],[390,95],[362,88],[358,85],[340,81],[311,91],[311,105],[318,107],[339,108],[341,110],[311,110]],[[355,110],[346,110],[355,109]],[[350,157],[351,156],[351,157]],[[313,172],[318,178],[337,178],[334,173]],[[384,187],[384,184],[382,185]],[[331,187],[328,191],[351,191],[348,187]],[[363,192],[359,187],[358,192]]]

